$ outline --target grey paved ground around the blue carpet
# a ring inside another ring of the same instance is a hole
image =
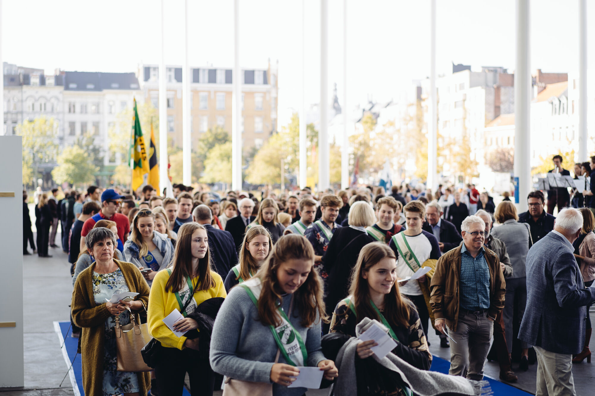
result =
[[[59,234],[56,238],[60,245]],[[72,283],[70,264],[61,248],[50,249],[53,258],[39,258],[37,255],[24,256],[24,369],[25,387],[23,389],[0,388],[2,396],[72,396],[73,390],[68,378],[62,387],[60,382],[67,372],[67,366],[54,331],[54,321],[69,320],[68,312]],[[595,321],[595,313],[591,312]],[[449,349],[441,349],[437,335],[430,334],[430,350],[436,356],[450,360]],[[513,365],[513,369],[516,365]],[[519,382],[516,387],[535,393],[537,364],[527,372],[518,372]],[[595,364],[580,363],[574,365],[574,382],[578,395],[593,394],[595,384]],[[486,375],[499,376],[496,362],[488,362]],[[220,395],[221,392],[215,392]],[[326,395],[327,390],[309,391],[308,396]]]

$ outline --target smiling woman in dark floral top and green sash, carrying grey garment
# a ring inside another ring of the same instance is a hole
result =
[[[393,354],[415,368],[428,370],[432,355],[428,350],[419,315],[415,305],[401,296],[396,280],[396,257],[392,249],[381,242],[365,245],[353,268],[350,295],[337,304],[331,319],[330,332],[342,332],[356,337],[355,327],[362,319],[376,319],[384,324],[397,343],[392,350]],[[369,364],[374,360],[368,358],[374,354],[371,347],[376,345],[374,340],[358,345],[355,362],[356,373],[361,371],[358,382],[360,375],[362,378],[374,378],[373,374],[364,372],[374,370],[374,365]],[[378,384],[367,385],[372,390]],[[406,390],[380,387],[377,392],[370,394],[406,395]]]

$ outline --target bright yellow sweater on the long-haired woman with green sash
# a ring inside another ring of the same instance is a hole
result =
[[[211,276],[215,280],[215,287],[211,287],[208,290],[196,290],[194,293],[196,305],[201,305],[203,301],[213,297],[227,297],[221,276],[215,273],[215,271],[211,271]],[[176,294],[165,291],[165,284],[167,284],[169,278],[170,274],[168,271],[162,270],[153,279],[151,294],[149,294],[147,324],[149,325],[149,332],[151,332],[152,337],[160,341],[162,346],[184,349],[186,337],[177,337],[163,322],[163,318],[169,315],[174,309],[180,311]],[[192,278],[192,284],[196,284],[196,278]]]

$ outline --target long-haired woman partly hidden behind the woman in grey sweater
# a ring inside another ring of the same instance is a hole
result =
[[[262,263],[267,259],[268,252],[273,246],[271,234],[263,226],[253,226],[244,235],[242,249],[240,249],[239,262],[232,267],[225,278],[225,290],[229,290],[252,278]]]

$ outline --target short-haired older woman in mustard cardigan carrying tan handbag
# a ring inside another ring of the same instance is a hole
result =
[[[83,270],[74,284],[72,316],[82,328],[80,349],[83,366],[83,387],[86,396],[146,395],[149,373],[116,370],[115,318],[120,324],[130,322],[127,307],[139,322],[139,313],[146,315],[149,285],[139,268],[114,259],[117,240],[111,230],[99,227],[89,231],[85,245],[95,262]],[[134,301],[106,302],[114,293],[139,293]]]

